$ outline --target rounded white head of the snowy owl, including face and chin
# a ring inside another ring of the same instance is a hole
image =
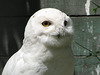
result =
[[[25,39],[48,46],[62,46],[71,42],[72,33],[72,21],[65,13],[45,8],[31,16],[25,29]]]

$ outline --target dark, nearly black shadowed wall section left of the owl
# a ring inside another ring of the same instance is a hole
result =
[[[28,19],[39,9],[39,0],[0,0],[0,75],[8,58],[21,47]]]

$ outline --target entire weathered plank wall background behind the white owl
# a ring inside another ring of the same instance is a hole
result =
[[[0,0],[0,75],[7,60],[20,49],[30,16],[46,7],[57,8],[73,20],[75,75],[100,75],[99,5],[100,0]]]

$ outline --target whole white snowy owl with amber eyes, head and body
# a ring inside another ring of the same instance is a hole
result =
[[[73,75],[72,20],[55,8],[29,19],[23,45],[6,63],[2,75]]]

